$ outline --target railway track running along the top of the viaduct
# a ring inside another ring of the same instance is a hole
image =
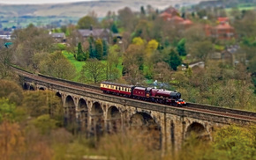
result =
[[[64,80],[64,79],[59,79],[59,78],[52,77],[52,76],[45,76],[42,74],[36,75],[34,73],[27,72],[23,69],[18,69],[15,67],[12,67],[12,69],[15,70],[19,74],[19,76],[26,76],[26,77],[32,78],[34,80],[38,80],[41,82],[47,82],[49,84],[62,85],[65,87],[76,89],[78,91],[90,91],[90,92],[94,92],[94,93],[96,92],[97,94],[105,95],[102,93],[99,86],[80,84],[80,83],[76,83],[76,82],[72,82],[72,81],[68,81],[68,80]],[[115,96],[117,98],[124,98],[124,97],[120,97],[117,95],[111,95],[111,96]],[[139,101],[142,103],[148,103],[149,105],[152,104],[152,102],[146,102],[146,101],[142,101],[139,99],[129,98],[129,100]],[[158,104],[158,105],[162,105],[162,104]],[[256,113],[243,111],[243,110],[222,108],[222,107],[213,106],[213,105],[200,105],[200,104],[193,104],[193,103],[188,103],[187,106],[184,106],[182,108],[178,107],[178,106],[171,106],[171,105],[164,105],[164,106],[183,109],[185,111],[192,111],[192,112],[199,112],[199,113],[210,113],[210,114],[215,114],[215,115],[219,115],[219,116],[237,118],[237,119],[242,119],[242,120],[250,120],[250,121],[256,123]]]

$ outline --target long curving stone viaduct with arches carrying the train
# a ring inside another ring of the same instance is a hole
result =
[[[124,131],[124,127],[127,126],[147,128],[154,131],[153,139],[158,141],[158,149],[180,149],[182,142],[192,132],[211,139],[216,127],[231,123],[247,125],[252,122],[185,107],[172,107],[103,94],[101,91],[57,80],[49,81],[47,78],[22,76],[21,79],[26,90],[55,91],[56,96],[62,99],[65,118],[77,121],[81,129],[89,135]]]

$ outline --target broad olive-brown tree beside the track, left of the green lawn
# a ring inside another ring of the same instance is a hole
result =
[[[39,64],[40,72],[49,76],[72,80],[76,69],[60,52],[48,55]]]

